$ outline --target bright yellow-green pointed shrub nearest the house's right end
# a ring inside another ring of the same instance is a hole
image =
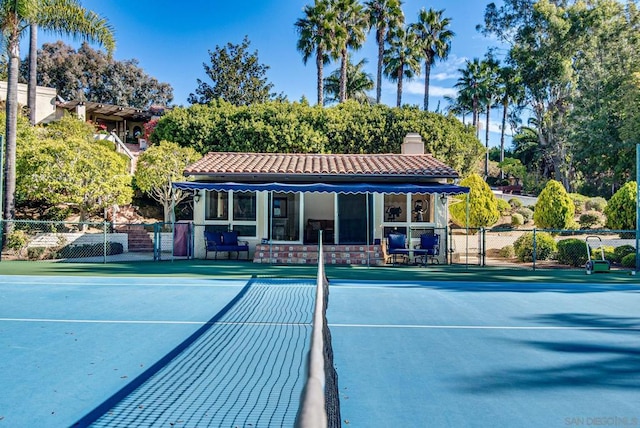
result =
[[[451,220],[458,226],[472,228],[494,225],[500,218],[498,201],[489,185],[478,174],[471,174],[460,181],[461,186],[469,187],[469,222],[467,223],[467,198],[457,196],[449,205]]]

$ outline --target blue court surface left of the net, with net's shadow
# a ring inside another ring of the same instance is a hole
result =
[[[0,426],[292,426],[313,281],[0,285]]]

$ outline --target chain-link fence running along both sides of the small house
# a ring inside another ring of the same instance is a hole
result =
[[[192,222],[12,220],[0,225],[2,260],[80,263],[190,259],[194,243],[202,244],[196,237],[211,228]],[[612,269],[635,267],[635,230],[412,229],[412,245],[422,233],[440,235],[440,264],[584,269],[589,261],[606,260]]]

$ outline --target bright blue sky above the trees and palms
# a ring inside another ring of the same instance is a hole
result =
[[[145,72],[159,81],[171,84],[174,103],[188,105],[189,93],[195,91],[197,79],[207,80],[202,64],[209,63],[208,51],[216,45],[228,42],[239,44],[248,36],[251,49],[258,51],[261,63],[270,67],[267,77],[274,84],[274,91],[284,93],[289,100],[297,101],[305,96],[313,103],[316,96],[315,64],[305,66],[296,50],[295,21],[302,17],[302,9],[312,0],[262,0],[262,1],[169,1],[169,0],[83,0],[82,5],[105,16],[116,34],[115,58],[135,58]],[[452,19],[451,29],[456,33],[451,54],[445,62],[438,62],[431,74],[431,98],[429,108],[434,110],[440,102],[446,108],[444,95],[455,95],[453,85],[457,70],[464,67],[466,59],[481,58],[487,47],[495,42],[479,34],[475,27],[483,19],[488,1],[482,0],[432,0],[429,2],[405,0],[403,10],[407,23],[417,20],[421,8],[444,9]],[[57,36],[42,33],[39,42],[54,41]],[[78,47],[80,42],[66,41]],[[352,53],[357,62],[367,58],[367,71],[375,79],[375,35],[369,34],[365,46]],[[325,75],[338,67],[331,63]],[[424,73],[424,71],[423,71]],[[403,104],[422,106],[424,75],[405,81]],[[372,92],[373,94],[373,92]],[[385,81],[382,102],[395,105],[396,85]],[[498,121],[499,112],[494,113]],[[497,131],[498,124],[492,123]],[[499,136],[492,133],[491,145]]]

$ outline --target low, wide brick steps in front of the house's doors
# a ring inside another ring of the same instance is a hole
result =
[[[325,245],[327,265],[382,265],[380,245]],[[316,264],[317,245],[259,244],[253,257],[254,263],[271,264]]]

